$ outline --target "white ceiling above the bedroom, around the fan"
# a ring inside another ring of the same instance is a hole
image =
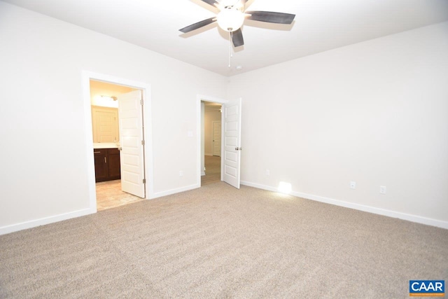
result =
[[[448,0],[249,0],[251,11],[295,14],[292,25],[246,20],[231,65],[229,36],[200,0],[3,0],[224,76],[448,20]],[[237,71],[241,65],[243,69]]]

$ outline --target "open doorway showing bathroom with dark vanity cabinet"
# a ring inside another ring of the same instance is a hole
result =
[[[121,169],[123,138],[120,138],[120,123],[123,122],[120,120],[123,119],[120,119],[119,101],[123,95],[136,90],[138,89],[90,80],[97,211],[143,200],[124,192]]]

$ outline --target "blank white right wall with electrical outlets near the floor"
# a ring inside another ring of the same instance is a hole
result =
[[[241,180],[448,228],[447,53],[444,22],[233,76]]]

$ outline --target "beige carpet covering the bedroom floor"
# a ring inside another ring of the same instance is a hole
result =
[[[0,298],[409,298],[448,230],[225,183],[0,236]]]

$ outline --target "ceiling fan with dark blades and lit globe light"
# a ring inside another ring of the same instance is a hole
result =
[[[207,20],[202,20],[195,24],[189,25],[180,32],[187,33],[201,27],[207,26],[214,22],[218,22],[218,26],[223,30],[230,32],[233,46],[239,47],[244,45],[243,34],[241,26],[244,20],[254,20],[260,22],[276,23],[276,24],[291,24],[295,15],[290,13],[275,13],[272,11],[246,11],[246,2],[248,0],[201,0],[211,6],[216,6],[219,9],[218,15]]]

